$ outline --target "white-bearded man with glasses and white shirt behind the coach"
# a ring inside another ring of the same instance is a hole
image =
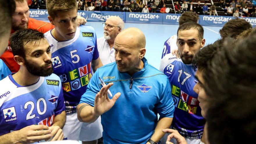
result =
[[[115,49],[113,49],[115,37],[124,27],[124,21],[117,16],[109,17],[104,26],[104,37],[97,39],[99,58],[103,65],[115,62]]]

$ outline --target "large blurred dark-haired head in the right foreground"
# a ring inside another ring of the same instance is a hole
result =
[[[255,32],[241,40],[227,38],[211,61],[205,79],[211,102],[206,115],[210,143],[250,143],[255,139],[255,45]]]

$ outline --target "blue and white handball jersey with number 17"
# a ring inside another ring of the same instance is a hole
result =
[[[200,139],[205,125],[198,94],[193,90],[197,80],[192,65],[186,65],[172,53],[161,60],[160,71],[168,77],[175,105],[172,128],[186,138]]]

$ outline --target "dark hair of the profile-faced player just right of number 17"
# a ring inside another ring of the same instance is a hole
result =
[[[208,69],[208,65],[217,51],[223,46],[223,39],[216,40],[213,44],[209,44],[200,49],[193,57],[192,64],[194,69],[205,70]]]

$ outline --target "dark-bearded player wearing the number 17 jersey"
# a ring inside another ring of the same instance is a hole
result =
[[[196,79],[192,66],[192,58],[205,45],[203,35],[202,26],[195,22],[180,25],[177,31],[177,46],[181,58],[169,53],[161,60],[160,65],[160,70],[169,78],[175,103],[171,128],[179,131],[188,143],[200,142],[205,125],[198,94],[193,91]]]

